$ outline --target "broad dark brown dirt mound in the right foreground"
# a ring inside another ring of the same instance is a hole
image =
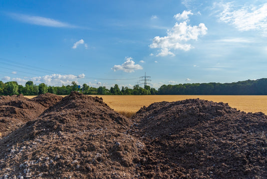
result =
[[[144,177],[267,178],[267,120],[200,99],[157,102],[135,116]]]

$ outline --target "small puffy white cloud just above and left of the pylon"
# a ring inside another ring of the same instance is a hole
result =
[[[111,69],[114,71],[123,70],[125,72],[134,72],[134,70],[143,69],[141,65],[135,64],[132,59],[132,57],[125,57],[125,62],[122,65],[114,65]]]

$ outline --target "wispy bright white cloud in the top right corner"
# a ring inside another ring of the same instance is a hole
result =
[[[233,24],[240,31],[261,30],[267,34],[267,3],[255,6],[244,5],[236,9],[230,2],[214,3],[213,7],[222,8],[218,14],[220,20]]]

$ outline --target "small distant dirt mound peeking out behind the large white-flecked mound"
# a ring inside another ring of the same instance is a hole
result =
[[[30,101],[40,103],[43,106],[45,106],[46,108],[48,108],[48,107],[56,104],[57,102],[61,101],[62,98],[63,98],[62,96],[47,92],[45,94],[40,94],[40,95],[30,99]]]

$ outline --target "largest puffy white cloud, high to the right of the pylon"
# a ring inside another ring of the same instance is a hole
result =
[[[167,30],[167,36],[153,38],[150,48],[161,48],[161,52],[157,56],[175,55],[171,52],[171,49],[181,49],[188,51],[193,46],[191,44],[184,43],[188,40],[197,40],[199,35],[205,35],[207,33],[207,27],[204,23],[199,25],[187,25],[186,21],[175,23],[171,30]]]

